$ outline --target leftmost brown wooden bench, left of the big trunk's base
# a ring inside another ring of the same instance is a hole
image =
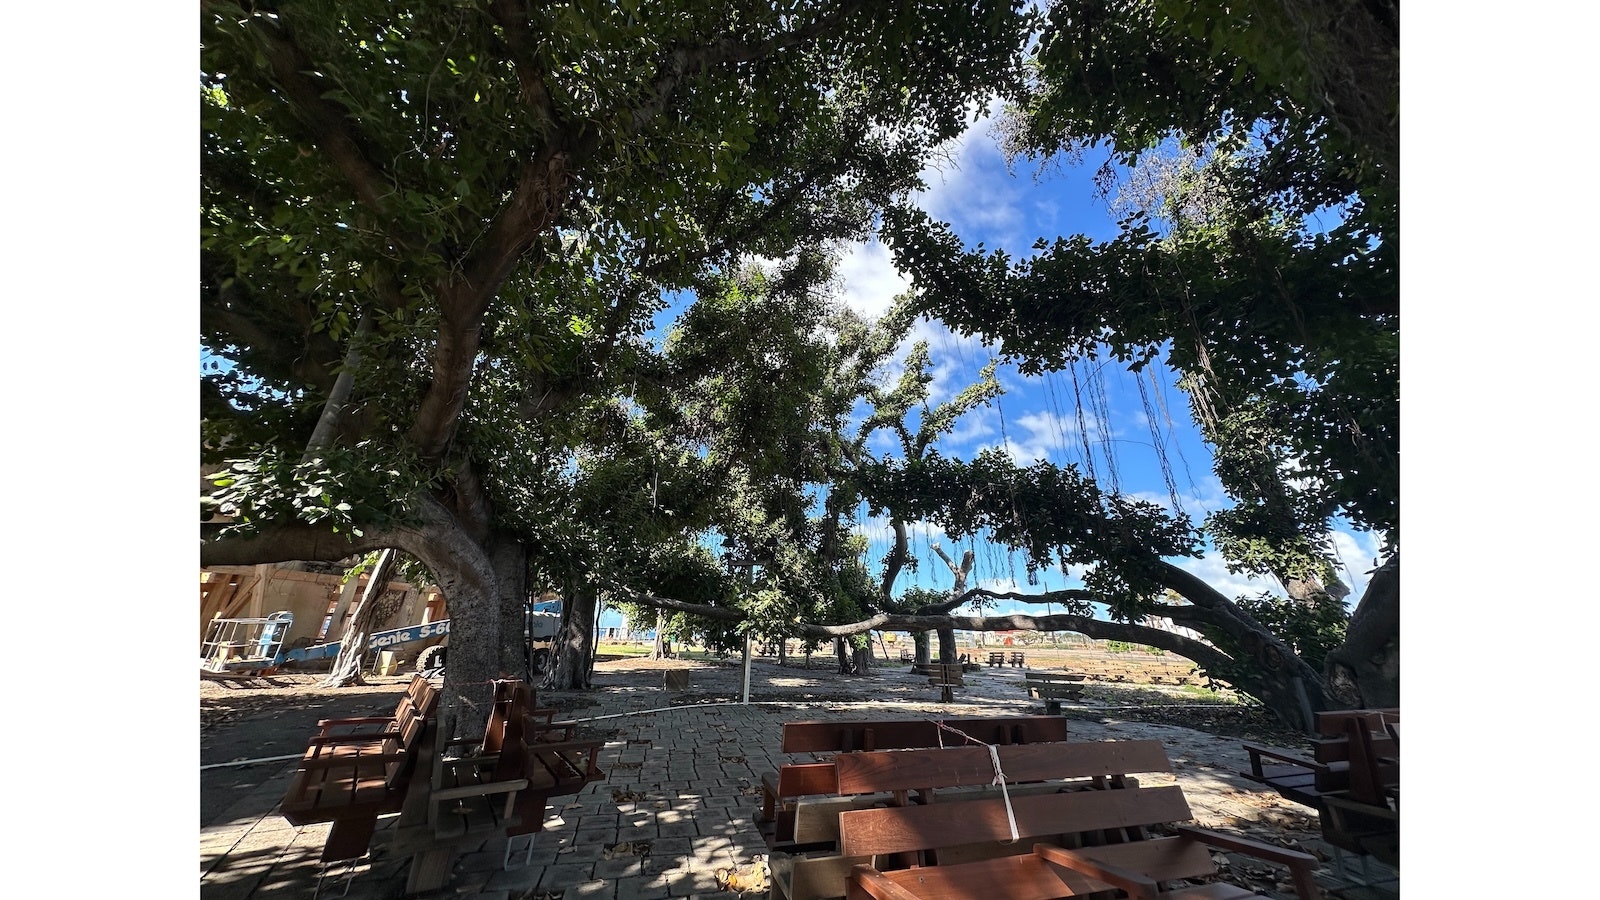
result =
[[[330,863],[366,855],[378,817],[400,812],[419,746],[430,740],[438,690],[427,681],[411,685],[395,714],[323,719],[307,741],[278,814],[291,825],[331,823],[322,849]],[[322,887],[322,878],[317,879]]]

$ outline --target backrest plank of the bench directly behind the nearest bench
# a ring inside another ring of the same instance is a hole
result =
[[[1067,740],[1061,716],[994,716],[939,719],[984,743],[1046,743]],[[867,749],[926,749],[960,743],[931,719],[872,722],[784,722],[782,753],[854,753]]]

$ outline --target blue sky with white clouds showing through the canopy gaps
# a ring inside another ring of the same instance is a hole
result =
[[[928,187],[920,203],[930,215],[950,223],[966,245],[982,242],[987,248],[1003,248],[1014,258],[1029,256],[1034,240],[1040,237],[1086,234],[1109,239],[1115,234],[1107,203],[1096,195],[1091,181],[1104,155],[1096,159],[1088,154],[1078,167],[1040,168],[1034,162],[1019,160],[1013,171],[997,147],[990,123],[987,115],[979,119],[923,173]],[[880,315],[894,295],[910,287],[894,269],[888,248],[877,242],[856,247],[845,256],[840,282],[843,303],[866,315]],[[978,370],[998,356],[998,348],[954,335],[938,322],[920,322],[910,340],[926,340],[930,344],[934,373],[930,404],[946,400],[976,381]],[[998,378],[1005,394],[990,407],[963,418],[938,448],[946,456],[971,458],[982,448],[998,447],[1022,464],[1043,458],[1083,468],[1086,436],[1088,455],[1094,460],[1102,485],[1109,484],[1109,471],[1115,471],[1117,484],[1125,493],[1168,509],[1176,495],[1176,504],[1197,524],[1208,512],[1226,508],[1229,501],[1211,474],[1211,455],[1190,421],[1184,394],[1174,388],[1176,376],[1165,367],[1155,367],[1154,375],[1142,376],[1141,392],[1141,378],[1115,362],[1106,365],[1101,375],[1109,415],[1101,420],[1085,410],[1085,428],[1080,429],[1072,375],[1024,376],[1016,367],[1002,365]],[[894,372],[885,373],[885,378],[893,376]],[[1080,391],[1086,384],[1088,370],[1080,368]],[[1147,410],[1154,412],[1154,429]],[[885,432],[878,432],[878,439],[875,450],[893,452]],[[1155,452],[1157,442],[1166,448],[1171,487]],[[880,559],[888,546],[888,522],[867,519],[862,533],[874,541],[870,557]],[[1366,573],[1374,565],[1381,541],[1376,535],[1349,527],[1338,527],[1333,540],[1354,604],[1365,589]],[[1029,593],[1080,586],[1080,572],[1062,575],[1054,570],[1042,572],[1037,586],[1027,585],[1021,556],[1013,557],[1003,548],[984,541],[955,544],[936,527],[923,524],[912,528],[912,551],[920,559],[918,569],[901,575],[898,589],[912,585],[952,585],[950,572],[933,552],[933,544],[942,544],[957,560],[968,546],[974,549],[976,567],[970,586]],[[1275,581],[1229,573],[1216,554],[1174,562],[1227,596],[1282,593]],[[1037,612],[1037,607],[1014,602],[1000,605],[1002,612],[1024,609]]]

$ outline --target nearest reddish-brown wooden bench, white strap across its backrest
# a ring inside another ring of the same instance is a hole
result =
[[[1114,890],[1174,900],[1254,897],[1221,881],[1165,889],[1214,878],[1213,847],[1283,865],[1301,900],[1320,897],[1315,857],[1173,825],[1190,818],[1178,785],[1013,796],[1010,817],[1003,798],[848,810],[838,815],[840,854],[875,862],[853,865],[846,897],[1054,900]],[[1176,834],[1160,838],[1157,828]],[[1016,854],[1018,844],[1032,852]]]

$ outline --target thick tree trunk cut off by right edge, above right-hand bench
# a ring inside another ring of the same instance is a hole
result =
[[[1400,554],[1390,556],[1366,583],[1350,617],[1344,644],[1325,663],[1328,692],[1339,706],[1400,705]]]

